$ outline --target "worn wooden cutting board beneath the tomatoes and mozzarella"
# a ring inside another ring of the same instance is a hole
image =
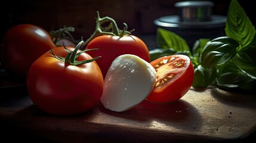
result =
[[[145,100],[117,113],[100,103],[76,116],[44,113],[23,96],[1,101],[0,122],[1,130],[58,142],[255,141],[256,96],[190,89],[171,104]]]

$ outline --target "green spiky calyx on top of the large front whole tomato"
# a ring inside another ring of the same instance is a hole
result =
[[[82,40],[81,42],[78,43],[78,45],[76,45],[76,48],[74,49],[74,51],[69,51],[69,49],[66,48],[66,46],[63,44],[64,49],[67,51],[67,56],[65,58],[63,57],[59,57],[57,55],[54,54],[53,50],[50,49],[49,51],[51,52],[51,54],[53,54],[53,56],[55,58],[57,58],[60,61],[63,61],[65,64],[68,65],[73,65],[73,66],[79,66],[81,64],[86,64],[86,63],[90,63],[92,61],[97,60],[98,58],[100,58],[101,56],[92,58],[90,60],[83,60],[83,61],[77,61],[76,59],[79,57],[79,55],[81,55],[83,52],[87,52],[87,51],[91,51],[91,50],[97,50],[97,48],[94,49],[85,49],[83,51],[78,52],[78,49],[84,44],[84,41]]]

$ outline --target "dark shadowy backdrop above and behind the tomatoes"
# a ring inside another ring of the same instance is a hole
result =
[[[216,0],[212,8],[212,14],[227,15],[231,0]],[[41,26],[47,31],[53,27],[55,30],[63,26],[72,26],[75,32],[72,33],[75,39],[90,37],[95,29],[96,11],[101,17],[109,16],[116,20],[121,28],[122,23],[128,24],[128,30],[135,29],[132,34],[146,35],[153,34],[156,26],[153,20],[164,15],[176,15],[174,7],[178,0],[8,0],[1,4],[1,32],[0,38],[10,27],[30,23]],[[238,0],[245,10],[252,24],[255,24],[252,1]],[[252,12],[251,12],[252,11]]]

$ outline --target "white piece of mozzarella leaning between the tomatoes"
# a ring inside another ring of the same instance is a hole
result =
[[[101,102],[112,111],[126,111],[148,97],[156,83],[156,70],[137,55],[117,57],[107,71]]]

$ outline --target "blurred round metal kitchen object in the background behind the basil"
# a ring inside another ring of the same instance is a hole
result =
[[[212,14],[211,1],[176,2],[178,15],[166,15],[154,20],[156,26],[170,30],[184,38],[192,48],[200,38],[214,39],[224,35],[225,15]]]

